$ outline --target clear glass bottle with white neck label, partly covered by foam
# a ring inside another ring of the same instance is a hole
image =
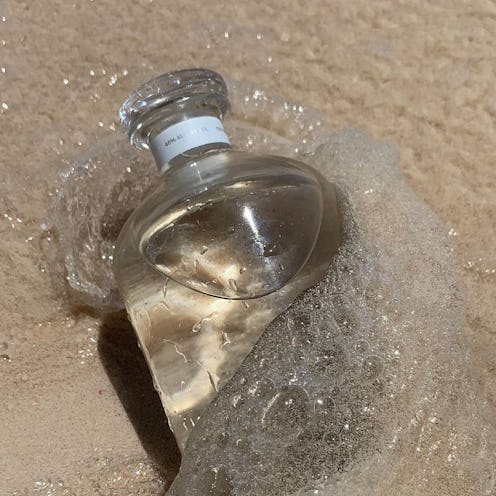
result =
[[[181,449],[338,237],[335,221],[321,229],[323,212],[337,219],[332,188],[302,163],[232,149],[228,107],[222,77],[190,69],[140,86],[120,110],[161,177],[124,225],[114,270]]]

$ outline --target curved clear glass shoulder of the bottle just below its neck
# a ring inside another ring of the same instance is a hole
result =
[[[184,215],[188,210],[203,208],[202,205],[235,198],[243,202],[242,198],[248,196],[250,202],[262,201],[256,198],[266,195],[272,195],[274,202],[283,202],[286,195],[294,196],[298,189],[312,191],[320,202],[321,183],[306,164],[287,157],[233,149],[208,153],[159,176],[156,187],[131,214],[123,235],[132,230],[136,240],[140,240],[148,236],[150,226],[172,223],[179,212]]]

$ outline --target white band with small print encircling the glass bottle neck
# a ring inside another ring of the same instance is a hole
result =
[[[171,166],[212,150],[230,147],[222,121],[212,115],[186,118],[167,126],[149,142],[161,173]]]

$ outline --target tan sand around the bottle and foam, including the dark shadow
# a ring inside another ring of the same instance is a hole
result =
[[[129,327],[70,311],[41,251],[53,242],[45,219],[58,172],[116,132],[137,83],[175,68],[254,81],[318,108],[332,128],[359,127],[399,149],[451,238],[474,374],[496,406],[495,16],[480,0],[4,1],[0,492],[126,494],[125,479],[142,477],[160,494],[148,464],[165,481],[177,470]]]

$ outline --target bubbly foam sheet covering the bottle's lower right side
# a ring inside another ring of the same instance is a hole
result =
[[[340,187],[345,243],[205,412],[170,494],[204,494],[213,470],[215,495],[490,494],[494,433],[442,229],[390,147],[343,131],[306,158]]]

